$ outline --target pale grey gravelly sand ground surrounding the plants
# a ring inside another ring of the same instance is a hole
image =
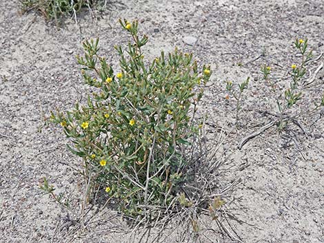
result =
[[[65,149],[59,129],[41,127],[43,114],[84,98],[88,87],[74,58],[82,53],[81,39],[100,37],[101,52],[117,63],[113,46],[127,40],[119,17],[139,19],[150,36],[149,59],[178,46],[212,64],[201,110],[210,114],[210,123],[227,131],[218,153],[224,160],[220,172],[228,183],[241,181],[231,210],[241,220],[232,225],[243,242],[324,242],[324,117],[317,112],[300,120],[307,136],[296,125],[283,134],[272,127],[236,149],[243,137],[270,121],[262,111],[275,111],[269,105],[270,89],[261,81],[261,65],[289,68],[296,60],[292,42],[297,37],[310,39],[314,56],[324,52],[322,0],[113,1],[96,20],[81,14],[81,32],[72,20],[57,30],[37,14],[21,16],[17,2],[0,1],[0,242],[130,242],[128,234],[118,233],[123,221],[109,209],[87,230],[71,231],[81,210],[83,184],[69,165],[78,167],[81,161]],[[184,36],[196,37],[196,44],[186,45]],[[265,56],[238,65],[263,50]],[[224,81],[247,76],[252,81],[236,132],[235,105],[224,98]],[[324,89],[323,76],[321,70],[296,109],[311,109]],[[218,136],[219,129],[206,129]],[[43,176],[72,199],[71,211],[43,195],[38,187]],[[177,242],[176,236],[165,241]],[[212,242],[230,241],[214,235]]]

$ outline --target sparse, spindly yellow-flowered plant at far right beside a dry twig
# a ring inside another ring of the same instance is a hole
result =
[[[274,81],[271,77],[272,72],[270,67],[265,65],[261,68],[263,79],[270,84],[274,97],[276,97],[276,105],[279,110],[279,131],[282,131],[290,120],[294,120],[300,116],[300,114],[288,115],[287,113],[291,111],[291,108],[294,107],[303,96],[303,87],[301,87],[301,85],[307,73],[307,65],[312,59],[312,50],[308,50],[307,42],[307,39],[296,39],[294,42],[294,47],[298,50],[299,54],[301,54],[301,61],[298,64],[291,65],[291,70],[289,72],[289,87],[280,87],[281,82]],[[281,92],[282,90],[284,90],[284,92]],[[323,104],[323,101],[319,104],[315,103],[315,108],[312,111],[318,109]]]

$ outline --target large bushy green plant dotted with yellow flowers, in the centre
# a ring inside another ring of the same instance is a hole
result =
[[[119,70],[99,55],[98,39],[85,41],[77,61],[97,92],[70,112],[52,112],[51,119],[72,141],[68,148],[83,158],[85,174],[121,211],[141,217],[149,206],[161,210],[177,202],[179,186],[189,179],[185,149],[199,134],[196,105],[211,71],[179,50],[146,61],[148,36],[139,36],[137,21],[119,22],[132,37],[125,49],[115,47]]]

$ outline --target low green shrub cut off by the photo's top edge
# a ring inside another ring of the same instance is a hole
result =
[[[21,0],[22,12],[37,10],[46,20],[58,21],[69,14],[77,14],[81,8],[101,6],[99,0]]]

